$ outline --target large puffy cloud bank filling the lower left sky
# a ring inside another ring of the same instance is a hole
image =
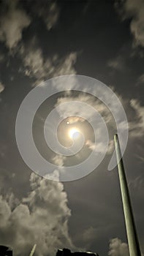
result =
[[[73,248],[68,233],[71,215],[67,194],[60,182],[48,181],[31,173],[31,192],[11,208],[10,201],[0,197],[1,244],[13,247],[15,256],[29,255],[37,244],[35,255],[55,255],[59,247]]]

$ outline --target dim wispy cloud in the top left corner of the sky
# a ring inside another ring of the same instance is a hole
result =
[[[23,37],[23,30],[32,22],[33,16],[42,18],[48,31],[56,24],[59,8],[55,1],[29,1],[29,15],[18,0],[1,2],[0,41],[14,50]],[[33,13],[34,12],[34,13]],[[32,13],[34,15],[32,15]]]

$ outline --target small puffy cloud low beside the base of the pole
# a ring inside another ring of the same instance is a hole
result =
[[[126,243],[123,243],[118,238],[110,240],[109,256],[129,256],[129,249]]]

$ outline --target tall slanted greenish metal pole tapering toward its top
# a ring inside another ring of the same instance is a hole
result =
[[[124,171],[124,163],[121,158],[121,148],[118,140],[118,135],[114,135],[115,140],[115,151],[116,158],[118,162],[118,176],[121,187],[121,197],[124,208],[124,217],[126,224],[126,234],[129,244],[129,255],[130,256],[140,256],[140,245],[137,238],[137,232],[134,225],[134,216],[132,214],[132,205],[129,196],[129,189],[126,181],[126,174]]]

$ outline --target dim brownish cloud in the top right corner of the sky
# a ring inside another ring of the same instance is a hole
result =
[[[115,6],[119,12],[118,1],[116,1]],[[134,36],[134,45],[140,45],[144,47],[144,1],[121,1],[120,13],[123,19],[131,18],[130,29]]]

